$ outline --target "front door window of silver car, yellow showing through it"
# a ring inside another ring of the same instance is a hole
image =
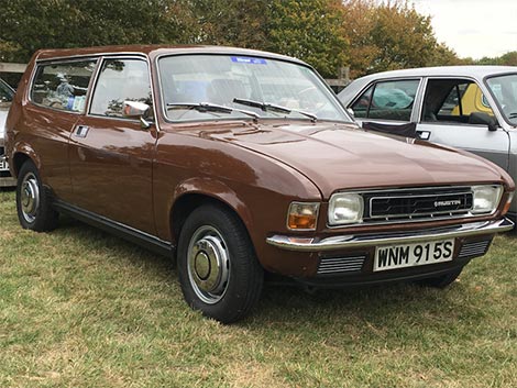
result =
[[[473,113],[494,115],[482,90],[470,79],[430,79],[424,97],[422,122],[469,124]]]

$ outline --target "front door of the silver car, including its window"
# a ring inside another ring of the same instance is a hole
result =
[[[482,88],[468,78],[429,78],[417,123],[420,138],[463,148],[509,168],[509,135],[490,131],[480,117],[493,118]]]

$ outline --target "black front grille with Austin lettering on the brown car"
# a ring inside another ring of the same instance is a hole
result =
[[[367,191],[364,222],[422,221],[461,218],[470,214],[470,187],[440,187]]]

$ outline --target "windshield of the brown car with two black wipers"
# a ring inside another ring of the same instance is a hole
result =
[[[161,58],[158,67],[169,120],[352,121],[315,71],[302,65],[242,55],[178,55]]]

